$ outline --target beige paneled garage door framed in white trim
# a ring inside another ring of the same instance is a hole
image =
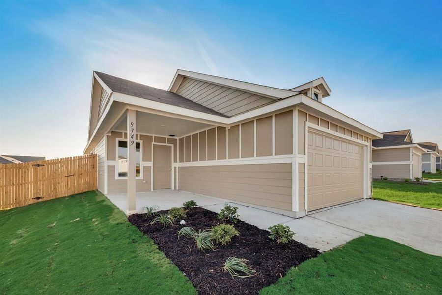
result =
[[[363,146],[312,131],[307,145],[308,211],[363,198]]]

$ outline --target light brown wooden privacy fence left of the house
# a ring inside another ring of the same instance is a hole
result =
[[[97,189],[97,155],[0,165],[0,210]]]

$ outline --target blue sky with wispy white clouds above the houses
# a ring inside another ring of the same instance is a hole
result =
[[[0,154],[87,143],[92,71],[167,89],[176,69],[289,89],[442,149],[442,1],[0,2]]]

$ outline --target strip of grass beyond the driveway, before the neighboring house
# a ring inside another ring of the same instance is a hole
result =
[[[424,208],[442,209],[442,182],[416,185],[394,181],[373,181],[373,198],[412,204]]]

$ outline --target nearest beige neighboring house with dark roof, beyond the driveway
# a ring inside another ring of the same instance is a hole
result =
[[[421,178],[421,158],[426,150],[413,143],[410,129],[382,134],[382,139],[373,140],[373,178]]]

